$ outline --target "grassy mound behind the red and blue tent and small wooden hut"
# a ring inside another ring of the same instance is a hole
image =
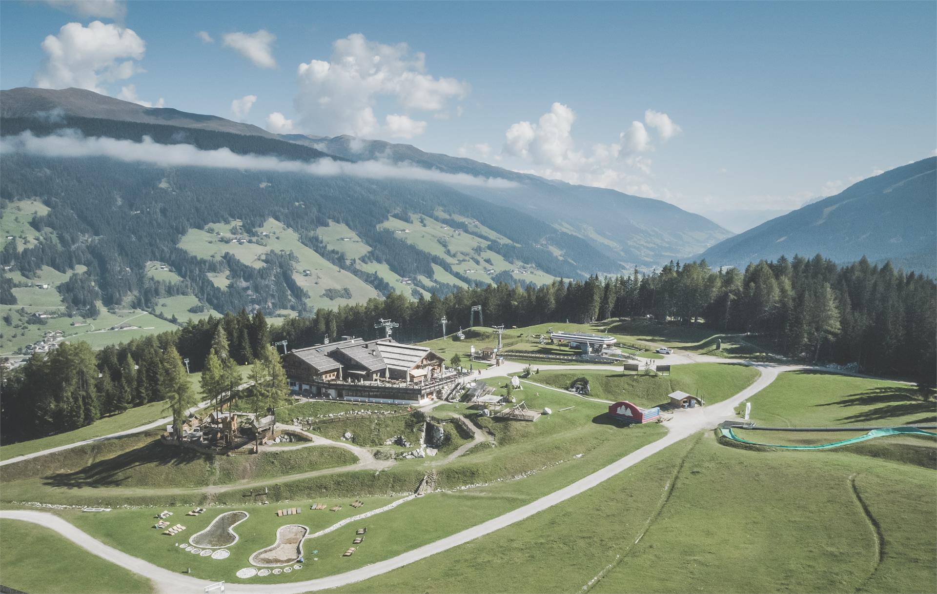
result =
[[[699,394],[706,404],[715,404],[738,394],[758,377],[758,371],[739,364],[700,363],[674,365],[671,374],[544,370],[530,376],[530,381],[566,390],[574,379],[589,381],[589,396],[603,400],[628,400],[639,407],[657,407],[669,403],[668,394],[681,390]]]

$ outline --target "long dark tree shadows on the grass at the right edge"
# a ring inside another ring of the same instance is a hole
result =
[[[816,407],[871,407],[840,417],[841,423],[878,423],[898,417],[923,415],[902,423],[937,423],[937,402],[925,398],[914,386],[882,386]]]

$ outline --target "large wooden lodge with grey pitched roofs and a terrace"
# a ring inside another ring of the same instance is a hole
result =
[[[283,365],[294,394],[351,402],[424,404],[448,395],[462,378],[432,350],[389,338],[294,349]]]

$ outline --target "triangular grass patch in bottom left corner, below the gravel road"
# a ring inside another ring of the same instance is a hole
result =
[[[22,592],[153,592],[146,578],[88,553],[49,528],[0,520],[3,585]]]

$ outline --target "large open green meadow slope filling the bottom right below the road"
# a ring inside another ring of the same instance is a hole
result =
[[[722,448],[711,433],[694,440],[513,526],[339,591],[578,591],[600,575],[597,592],[937,586],[937,537],[919,529],[937,522],[932,472],[839,453]],[[885,538],[880,564],[854,474]]]

